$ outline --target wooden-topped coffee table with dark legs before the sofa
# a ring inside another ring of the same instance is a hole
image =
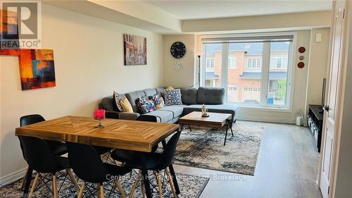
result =
[[[208,113],[208,112],[207,112]],[[226,125],[226,133],[225,133],[225,141],[224,141],[224,146],[226,144],[226,138],[227,138],[227,131],[231,130],[232,137],[234,136],[234,133],[232,132],[232,127],[231,127],[231,118],[232,114],[230,113],[208,113],[209,117],[208,118],[203,118],[201,116],[201,112],[199,111],[193,111],[191,113],[188,113],[186,116],[183,116],[180,118],[178,121],[179,124],[181,125],[181,131],[183,130],[184,125],[205,125],[211,128],[221,128],[222,126]],[[191,127],[189,126],[189,130],[191,130]]]

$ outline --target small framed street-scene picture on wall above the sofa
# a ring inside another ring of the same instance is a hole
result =
[[[146,65],[146,37],[123,35],[125,66]]]

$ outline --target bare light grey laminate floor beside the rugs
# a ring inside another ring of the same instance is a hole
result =
[[[206,175],[210,178],[201,198],[322,197],[316,185],[320,154],[308,128],[277,123],[239,122],[264,127],[254,176],[175,165],[177,173]]]

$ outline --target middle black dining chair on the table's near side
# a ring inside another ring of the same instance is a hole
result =
[[[122,197],[126,197],[125,192],[122,190],[122,187],[118,182],[118,177],[129,173],[131,171],[130,168],[115,166],[111,163],[103,163],[103,161],[101,161],[100,154],[90,145],[73,142],[66,142],[66,144],[68,147],[68,159],[71,167],[73,168],[73,172],[78,178],[84,181],[82,187],[80,187],[78,197],[83,197],[86,182],[89,182],[92,183],[92,185],[98,185],[99,190],[97,190],[97,188],[91,190],[91,185],[89,187],[87,186],[87,188],[89,188],[87,192],[93,196],[95,192],[99,192],[100,197],[103,198],[103,182],[108,182],[110,180],[110,176],[113,178],[115,187],[117,187]],[[115,187],[113,187],[113,185],[110,186],[111,192],[115,191]]]

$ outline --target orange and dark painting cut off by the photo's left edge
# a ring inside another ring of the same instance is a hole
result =
[[[18,56],[19,45],[17,13],[0,10],[0,55]]]

